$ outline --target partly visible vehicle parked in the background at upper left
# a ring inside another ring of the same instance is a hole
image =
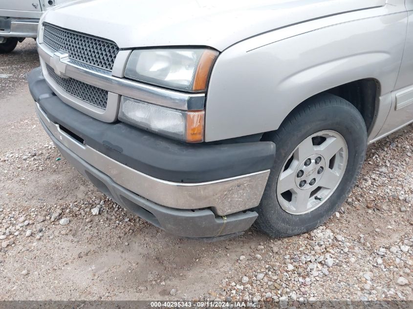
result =
[[[0,0],[0,54],[12,52],[18,42],[36,38],[43,12],[69,0]]]

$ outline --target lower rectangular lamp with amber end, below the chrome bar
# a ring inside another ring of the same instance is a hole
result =
[[[122,97],[119,120],[188,143],[202,142],[204,111],[186,111]]]

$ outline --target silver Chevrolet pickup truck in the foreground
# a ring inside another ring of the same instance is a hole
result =
[[[413,0],[78,0],[28,81],[67,161],[185,237],[309,231],[413,121]]]

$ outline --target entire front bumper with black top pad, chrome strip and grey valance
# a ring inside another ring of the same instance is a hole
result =
[[[29,88],[41,124],[65,158],[155,226],[180,236],[215,237],[241,232],[257,217],[245,210],[261,200],[273,143],[182,144],[73,109],[54,95],[40,69],[30,74]],[[248,173],[239,175],[242,170]],[[227,177],[217,179],[222,175]]]

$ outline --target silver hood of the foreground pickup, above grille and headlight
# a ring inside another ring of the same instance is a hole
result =
[[[120,48],[210,46],[219,51],[287,25],[386,4],[386,0],[77,0],[44,21]]]

